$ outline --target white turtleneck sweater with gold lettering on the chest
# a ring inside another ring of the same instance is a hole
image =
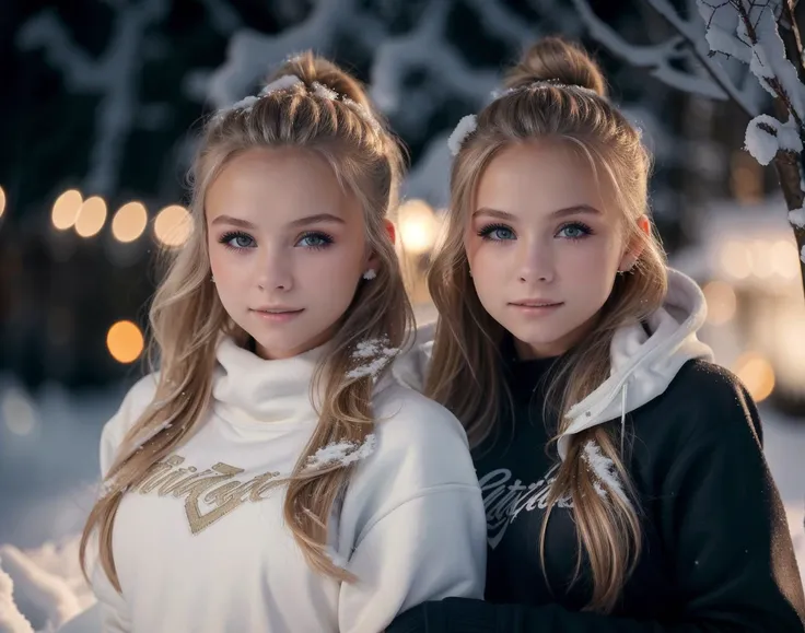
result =
[[[264,485],[291,472],[317,423],[308,391],[322,353],[264,361],[222,340],[207,419],[122,499],[113,531],[122,594],[94,574],[105,631],[380,633],[422,601],[482,597],[486,519],[464,430],[387,377],[373,397],[374,453],[330,534],[359,582],[305,563],[283,525],[284,487]],[[104,473],[154,388],[153,375],[140,380],[106,424]]]

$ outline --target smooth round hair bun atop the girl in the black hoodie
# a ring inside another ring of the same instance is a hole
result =
[[[516,89],[548,80],[607,95],[604,73],[596,61],[580,46],[561,37],[546,37],[533,44],[506,72],[503,84]]]

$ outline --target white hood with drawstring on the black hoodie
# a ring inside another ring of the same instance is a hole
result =
[[[615,332],[609,378],[568,411],[571,423],[559,438],[559,456],[564,459],[571,435],[617,418],[622,422],[627,413],[663,394],[688,361],[712,361],[712,350],[696,335],[705,316],[704,295],[696,282],[668,269],[662,307],[644,324]],[[400,383],[422,390],[434,332],[435,324],[420,327],[411,350],[397,359],[393,373]]]

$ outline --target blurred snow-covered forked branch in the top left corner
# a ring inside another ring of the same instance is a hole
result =
[[[149,48],[148,30],[162,21],[166,0],[113,4],[116,10],[109,45],[98,58],[89,57],[67,33],[54,10],[32,17],[20,31],[18,44],[27,50],[42,48],[69,87],[101,94],[95,142],[85,188],[110,194],[117,187],[126,141],[140,126],[138,85]],[[151,124],[158,121],[151,117]]]

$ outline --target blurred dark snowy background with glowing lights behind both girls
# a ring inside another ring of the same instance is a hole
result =
[[[0,543],[74,572],[60,548],[90,507],[101,426],[143,372],[154,256],[187,236],[185,174],[203,117],[307,48],[352,70],[410,150],[397,223],[428,318],[421,272],[447,203],[446,139],[548,34],[597,55],[643,130],[654,221],[672,265],[704,289],[701,338],[761,403],[802,546],[802,279],[777,175],[744,150],[746,103],[765,112],[771,99],[737,62],[676,54],[680,37],[707,50],[688,0],[3,0]],[[746,101],[708,84],[708,60]]]

